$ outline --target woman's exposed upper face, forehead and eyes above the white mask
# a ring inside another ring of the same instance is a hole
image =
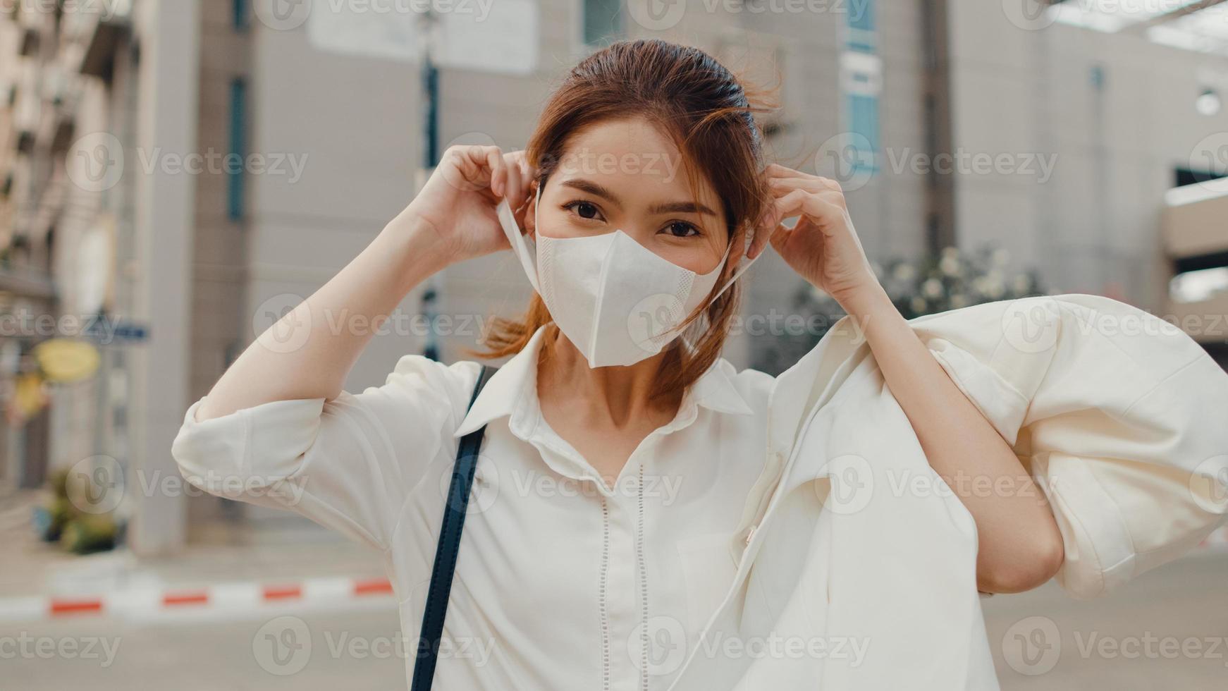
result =
[[[725,254],[728,232],[716,191],[700,179],[694,199],[682,155],[647,120],[599,123],[571,137],[542,190],[537,222],[553,238],[619,230],[658,257],[707,274]],[[532,207],[526,216],[532,223]]]

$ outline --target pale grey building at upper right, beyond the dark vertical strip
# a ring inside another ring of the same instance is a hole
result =
[[[1052,5],[971,2],[952,14],[954,150],[1052,161],[1043,180],[1039,164],[955,176],[959,242],[998,243],[1061,292],[1163,314],[1174,270],[1158,233],[1164,193],[1228,172],[1218,106],[1228,6]],[[1203,232],[1226,238],[1228,222]]]

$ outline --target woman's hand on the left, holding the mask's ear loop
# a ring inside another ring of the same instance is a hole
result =
[[[426,185],[393,225],[433,236],[432,244],[447,264],[508,249],[495,206],[506,198],[523,227],[522,206],[532,180],[523,151],[449,146]]]

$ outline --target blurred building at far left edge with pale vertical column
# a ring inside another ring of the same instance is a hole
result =
[[[177,473],[167,444],[187,396],[195,189],[192,177],[145,164],[145,155],[195,150],[196,90],[187,85],[196,82],[199,18],[192,4],[0,7],[11,103],[0,120],[4,290],[12,296],[2,347],[18,352],[21,372],[32,367],[31,349],[52,338],[85,339],[101,353],[91,379],[44,383],[45,431],[15,416],[20,396],[6,396],[7,437],[45,448],[36,455],[9,443],[7,482],[37,485],[49,466],[115,459],[130,482],[131,542],[174,550],[185,534],[183,497],[131,490]]]

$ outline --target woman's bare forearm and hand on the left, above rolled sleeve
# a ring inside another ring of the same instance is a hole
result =
[[[448,149],[418,198],[366,249],[243,351],[196,419],[278,400],[336,398],[376,328],[414,286],[448,264],[507,247],[495,204],[506,194],[516,209],[528,179],[523,152]],[[348,328],[354,323],[370,328]]]

